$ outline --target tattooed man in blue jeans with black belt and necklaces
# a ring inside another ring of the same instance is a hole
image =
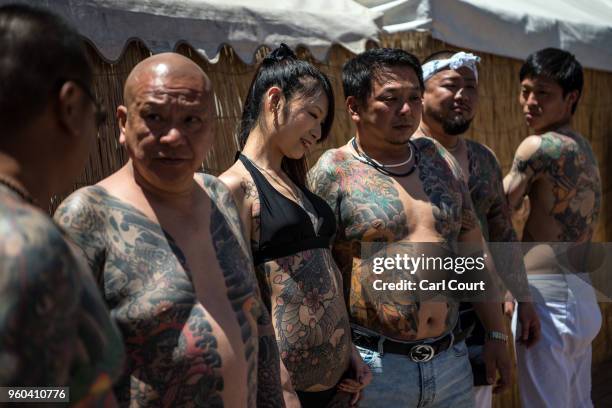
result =
[[[372,269],[359,267],[361,247],[371,242],[482,243],[458,166],[437,142],[410,141],[421,120],[421,66],[399,49],[369,50],[345,64],[342,80],[356,135],[326,152],[310,176],[338,219],[334,253],[350,292],[354,342],[374,371],[363,406],[427,401],[472,407],[467,348],[453,342],[457,302],[419,302],[405,291],[376,290]],[[478,307],[481,319],[503,340],[501,308],[485,305],[490,303]],[[489,342],[485,360],[490,382],[499,370],[505,386],[510,363],[504,342]]]

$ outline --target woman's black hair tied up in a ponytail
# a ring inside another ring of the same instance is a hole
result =
[[[260,120],[265,92],[272,86],[279,87],[287,104],[294,96],[310,98],[323,92],[327,96],[327,115],[321,124],[321,138],[325,140],[334,121],[334,92],[327,76],[314,65],[300,60],[286,44],[269,53],[259,64],[244,101],[238,132],[238,144],[244,148],[251,131]],[[286,111],[285,111],[286,113]],[[282,169],[299,185],[306,184],[306,159],[283,158]]]

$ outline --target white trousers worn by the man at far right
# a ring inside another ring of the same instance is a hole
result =
[[[516,347],[521,404],[591,408],[591,342],[601,328],[601,312],[588,274],[528,278],[542,337],[529,349]],[[516,325],[515,313],[515,334]]]

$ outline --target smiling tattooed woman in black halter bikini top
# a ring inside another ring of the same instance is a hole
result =
[[[251,240],[281,372],[291,380],[283,384],[287,406],[297,406],[293,389],[302,407],[349,406],[371,378],[351,342],[331,255],[334,214],[305,187],[304,155],[329,134],[333,101],[327,77],[281,45],[255,74],[244,103],[242,152],[220,177]]]

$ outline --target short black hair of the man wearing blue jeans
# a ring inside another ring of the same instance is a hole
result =
[[[374,48],[351,58],[342,67],[344,97],[354,96],[365,103],[372,93],[372,80],[389,67],[412,68],[423,91],[423,70],[417,57],[400,48]]]

